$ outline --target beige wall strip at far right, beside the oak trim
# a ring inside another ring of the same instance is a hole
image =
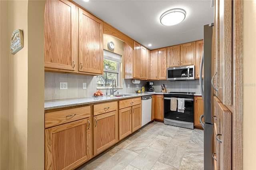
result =
[[[244,1],[244,169],[256,169],[256,0]]]

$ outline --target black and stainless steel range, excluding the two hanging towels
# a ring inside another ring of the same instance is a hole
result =
[[[171,98],[184,99],[184,113],[171,110]],[[164,124],[194,129],[194,93],[164,93]]]

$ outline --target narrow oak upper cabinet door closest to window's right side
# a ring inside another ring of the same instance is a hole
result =
[[[140,78],[140,44],[133,42],[133,77]]]

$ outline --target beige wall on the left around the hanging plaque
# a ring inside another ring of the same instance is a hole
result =
[[[8,109],[3,111],[5,103],[0,101],[1,169],[44,169],[44,3],[39,0],[1,0],[0,93],[1,97],[5,93],[9,95],[9,99],[4,98],[9,102]],[[2,20],[2,12],[6,9],[8,12]],[[7,38],[2,36],[3,25],[8,28],[4,33]],[[11,55],[10,36],[17,29],[23,31],[24,47]],[[2,70],[2,64],[7,66],[3,67],[6,71]],[[3,80],[8,81],[9,87]],[[4,116],[8,123],[3,123]],[[6,138],[3,137],[4,129],[9,129]],[[3,154],[6,150],[9,150],[9,156]]]

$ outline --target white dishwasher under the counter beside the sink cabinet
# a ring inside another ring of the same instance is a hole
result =
[[[151,122],[152,95],[141,97],[141,126]]]

